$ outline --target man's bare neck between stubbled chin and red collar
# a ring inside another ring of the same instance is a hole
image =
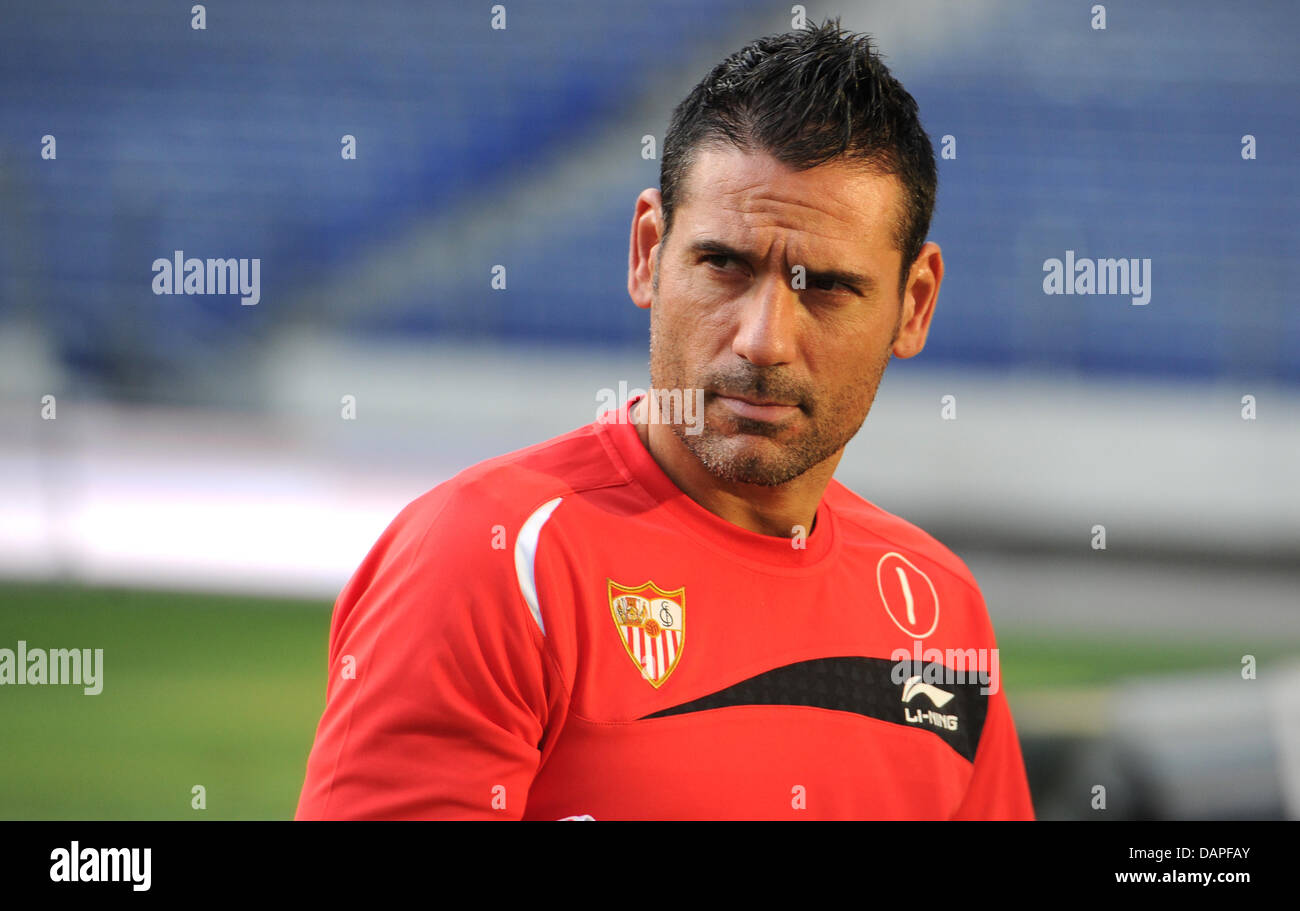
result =
[[[749,532],[780,538],[800,537],[801,530],[803,537],[812,533],[816,507],[840,464],[842,448],[776,487],[723,481],[699,463],[672,428],[647,420],[647,399],[637,402],[630,420],[641,444],[681,493],[715,516]]]

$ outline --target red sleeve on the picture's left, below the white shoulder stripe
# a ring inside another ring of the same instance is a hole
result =
[[[545,643],[491,516],[430,496],[393,522],[335,604],[296,819],[524,812],[552,707]]]

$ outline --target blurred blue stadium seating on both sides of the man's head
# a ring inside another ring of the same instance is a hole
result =
[[[196,31],[188,4],[8,4],[0,321],[34,312],[87,383],[160,395],[289,314],[155,296],[155,257],[257,256],[276,264],[263,299],[283,298],[534,168],[684,61],[731,49],[746,21],[741,0],[506,5],[510,27],[493,31],[486,4],[235,0],[208,4]],[[958,139],[940,162],[948,278],[923,361],[1300,382],[1300,6],[1113,5],[1105,32],[1054,6],[1026,5],[944,60],[890,58],[936,144]],[[38,156],[47,133],[57,161]],[[341,161],[342,133],[356,161]],[[1256,161],[1240,157],[1245,133]],[[308,318],[642,346],[625,244],[656,168],[629,166],[627,195],[580,220],[526,226],[537,242],[510,251],[507,292],[488,290],[499,251],[484,251],[463,281]],[[1150,304],[1045,295],[1043,261],[1066,250],[1149,257]]]

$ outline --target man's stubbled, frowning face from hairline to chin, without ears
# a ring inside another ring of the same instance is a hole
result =
[[[710,473],[783,485],[858,431],[911,318],[901,185],[731,147],[701,149],[685,185],[654,251],[650,381],[705,390],[702,431],[671,426]]]

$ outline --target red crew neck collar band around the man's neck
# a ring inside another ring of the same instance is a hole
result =
[[[638,395],[618,411],[606,412],[597,421],[597,428],[614,446],[632,478],[651,499],[680,519],[684,529],[722,550],[733,561],[751,563],[764,569],[810,567],[820,563],[835,550],[836,520],[826,495],[818,503],[816,521],[803,541],[803,547],[796,547],[793,538],[750,532],[690,499],[672,482],[672,478],[664,474],[641,442],[630,415],[632,408],[642,398],[645,396]]]

